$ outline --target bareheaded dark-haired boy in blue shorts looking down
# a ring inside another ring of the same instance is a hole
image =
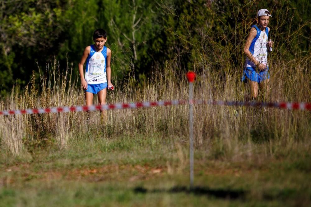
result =
[[[107,34],[104,29],[96,29],[93,34],[95,44],[84,49],[79,62],[81,86],[85,90],[86,105],[93,104],[93,95],[97,94],[100,105],[106,104],[107,88],[111,83],[111,50],[105,46]],[[86,62],[85,76],[83,65]]]

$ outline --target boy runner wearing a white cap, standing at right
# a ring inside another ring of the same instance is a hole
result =
[[[267,9],[261,9],[257,12],[257,25],[252,29],[245,41],[244,54],[247,56],[242,81],[247,80],[251,89],[251,97],[256,99],[258,96],[258,84],[266,88],[270,75],[267,63],[267,47],[273,46],[273,41],[268,42],[268,27],[271,14]]]

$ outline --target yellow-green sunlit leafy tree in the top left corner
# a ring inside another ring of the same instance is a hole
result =
[[[62,7],[65,2],[54,1],[2,1],[1,72],[6,81],[2,91],[9,90],[12,83],[25,84],[36,62],[45,65],[58,48],[62,34]]]

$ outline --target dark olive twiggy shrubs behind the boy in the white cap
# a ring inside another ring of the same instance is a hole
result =
[[[165,28],[161,37],[166,38],[155,42],[161,42],[161,50],[177,70],[232,70],[227,62],[242,68],[244,41],[261,8],[272,12],[270,35],[277,43],[275,54],[289,59],[310,51],[310,19],[295,9],[302,6],[306,10],[310,7],[307,1],[168,0],[161,5],[164,17],[160,24]]]

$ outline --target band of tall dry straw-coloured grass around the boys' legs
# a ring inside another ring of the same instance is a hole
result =
[[[310,101],[310,57],[296,61],[273,61],[269,94],[259,93],[261,101]],[[30,88],[21,94],[12,92],[2,101],[1,110],[15,108],[45,108],[83,105],[83,91],[71,79],[72,66],[53,65],[40,75],[40,91],[32,80]],[[185,76],[170,68],[155,71],[152,78],[138,85],[129,76],[108,92],[107,103],[188,99]],[[212,70],[198,72],[194,83],[195,99],[244,100],[248,85],[240,81],[240,73],[225,73],[220,81]],[[35,78],[35,77],[34,77]],[[33,78],[33,79],[34,79]],[[94,99],[97,103],[97,99]],[[107,111],[107,119],[100,121],[99,111],[91,112],[86,122],[85,112],[1,116],[1,147],[12,154],[47,141],[62,149],[78,139],[114,139],[124,135],[160,133],[159,139],[179,137],[179,144],[187,145],[188,106],[150,107]],[[311,143],[310,111],[263,109],[251,107],[194,106],[195,145],[198,151],[215,158],[239,160],[245,157],[264,159],[266,156],[289,154],[303,147],[309,151]],[[177,142],[179,142],[177,140]],[[177,143],[178,144],[178,143]]]

